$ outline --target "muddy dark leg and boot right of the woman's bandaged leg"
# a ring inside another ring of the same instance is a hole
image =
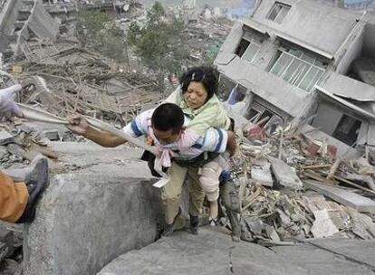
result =
[[[226,207],[226,215],[232,228],[232,239],[238,242],[241,235],[241,226],[237,213],[240,213],[241,210],[236,186],[232,180],[225,180],[220,184],[220,198],[221,203]]]

